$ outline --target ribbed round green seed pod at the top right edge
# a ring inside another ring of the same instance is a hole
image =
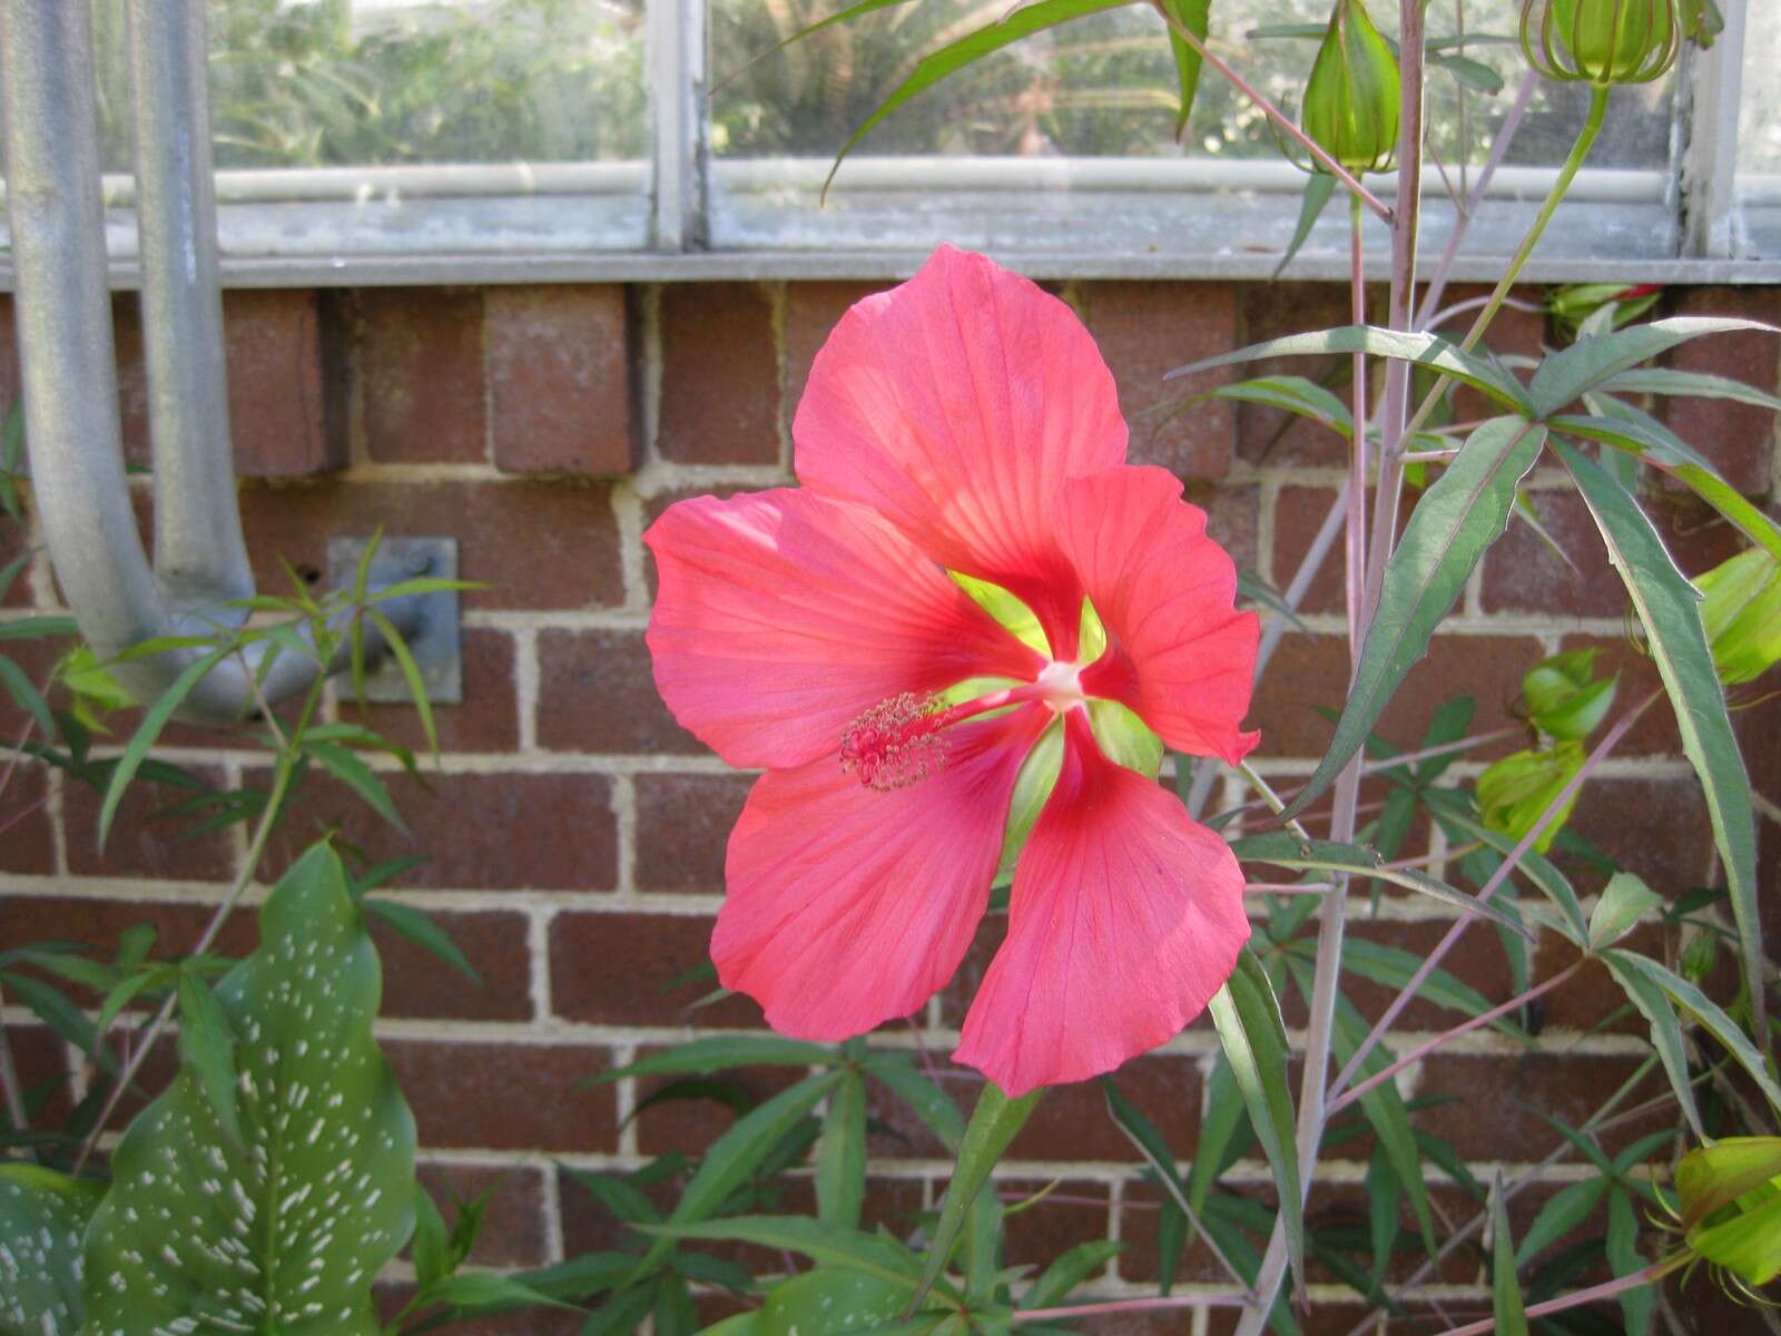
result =
[[[1696,30],[1699,30],[1696,23]],[[1676,0],[1523,0],[1521,52],[1546,78],[1649,84],[1681,50]]]

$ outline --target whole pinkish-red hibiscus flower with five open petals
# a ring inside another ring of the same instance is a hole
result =
[[[1248,937],[1243,876],[1101,737],[1131,711],[1193,755],[1256,745],[1257,623],[1206,515],[1126,463],[1069,306],[953,248],[842,317],[793,436],[801,488],[682,501],[645,534],[663,700],[766,770],[725,862],[723,985],[816,1040],[921,1008],[985,914],[1022,766],[1051,766],[955,1056],[1019,1096],[1165,1042]],[[1013,599],[1042,636],[985,611]]]

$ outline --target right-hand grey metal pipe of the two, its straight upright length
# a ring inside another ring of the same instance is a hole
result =
[[[253,570],[228,433],[203,0],[130,0],[128,30],[155,581],[175,615],[216,616],[253,593]]]

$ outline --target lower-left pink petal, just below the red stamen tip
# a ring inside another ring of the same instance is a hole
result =
[[[928,1001],[988,903],[1015,775],[1044,705],[947,732],[949,762],[880,793],[828,755],[748,794],[711,937],[723,987],[787,1035],[862,1035]]]

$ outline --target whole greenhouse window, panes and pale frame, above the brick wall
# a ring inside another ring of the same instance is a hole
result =
[[[112,248],[134,249],[121,0],[91,0]],[[1535,260],[1631,273],[1781,255],[1774,5],[1665,80],[1617,89]],[[835,151],[924,52],[1012,0],[908,0],[784,45],[841,0],[214,0],[219,230],[235,281],[876,273],[947,237],[1054,273],[1266,274],[1304,175],[1215,71],[1175,135],[1177,75],[1142,4],[1037,34]],[[1393,7],[1395,5],[1387,5]],[[1749,11],[1749,12],[1745,12]],[[1220,0],[1213,43],[1288,109],[1329,0]],[[1439,248],[1517,105],[1519,0],[1432,0]],[[1389,27],[1387,27],[1389,30]],[[1742,86],[1742,87],[1740,87]],[[1535,80],[1462,269],[1521,237],[1587,93]],[[1715,139],[1717,132],[1717,139]],[[1375,178],[1389,191],[1389,176]],[[1382,237],[1375,235],[1382,242]],[[1327,210],[1297,273],[1345,269]],[[1744,264],[1740,274],[1763,274]],[[331,278],[333,276],[333,278]]]

